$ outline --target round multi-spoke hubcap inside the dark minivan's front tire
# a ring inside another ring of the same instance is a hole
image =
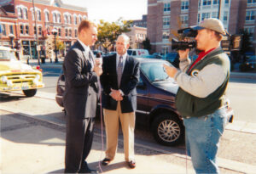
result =
[[[157,132],[162,140],[166,142],[173,142],[180,136],[180,127],[177,122],[166,120],[160,122]]]

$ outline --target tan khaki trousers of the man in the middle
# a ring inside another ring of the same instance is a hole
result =
[[[119,121],[124,136],[125,160],[135,160],[134,156],[134,128],[135,112],[122,113],[120,102],[116,110],[103,109],[107,134],[106,158],[113,160],[118,145]]]

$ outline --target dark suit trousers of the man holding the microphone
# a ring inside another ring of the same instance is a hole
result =
[[[67,115],[65,173],[77,173],[87,167],[85,160],[91,149],[94,120],[94,117],[77,119]]]

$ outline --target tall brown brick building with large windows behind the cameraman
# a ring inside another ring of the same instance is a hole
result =
[[[171,52],[170,39],[178,29],[197,25],[205,18],[218,18],[219,7],[225,29],[230,34],[247,30],[255,48],[255,0],[148,0],[148,38],[153,51]]]

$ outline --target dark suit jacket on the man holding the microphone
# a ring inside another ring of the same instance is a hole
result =
[[[91,71],[90,58],[86,58],[84,48],[75,42],[69,49],[63,71],[66,77],[64,107],[68,115],[76,118],[94,117],[96,115],[96,93],[98,77]]]

